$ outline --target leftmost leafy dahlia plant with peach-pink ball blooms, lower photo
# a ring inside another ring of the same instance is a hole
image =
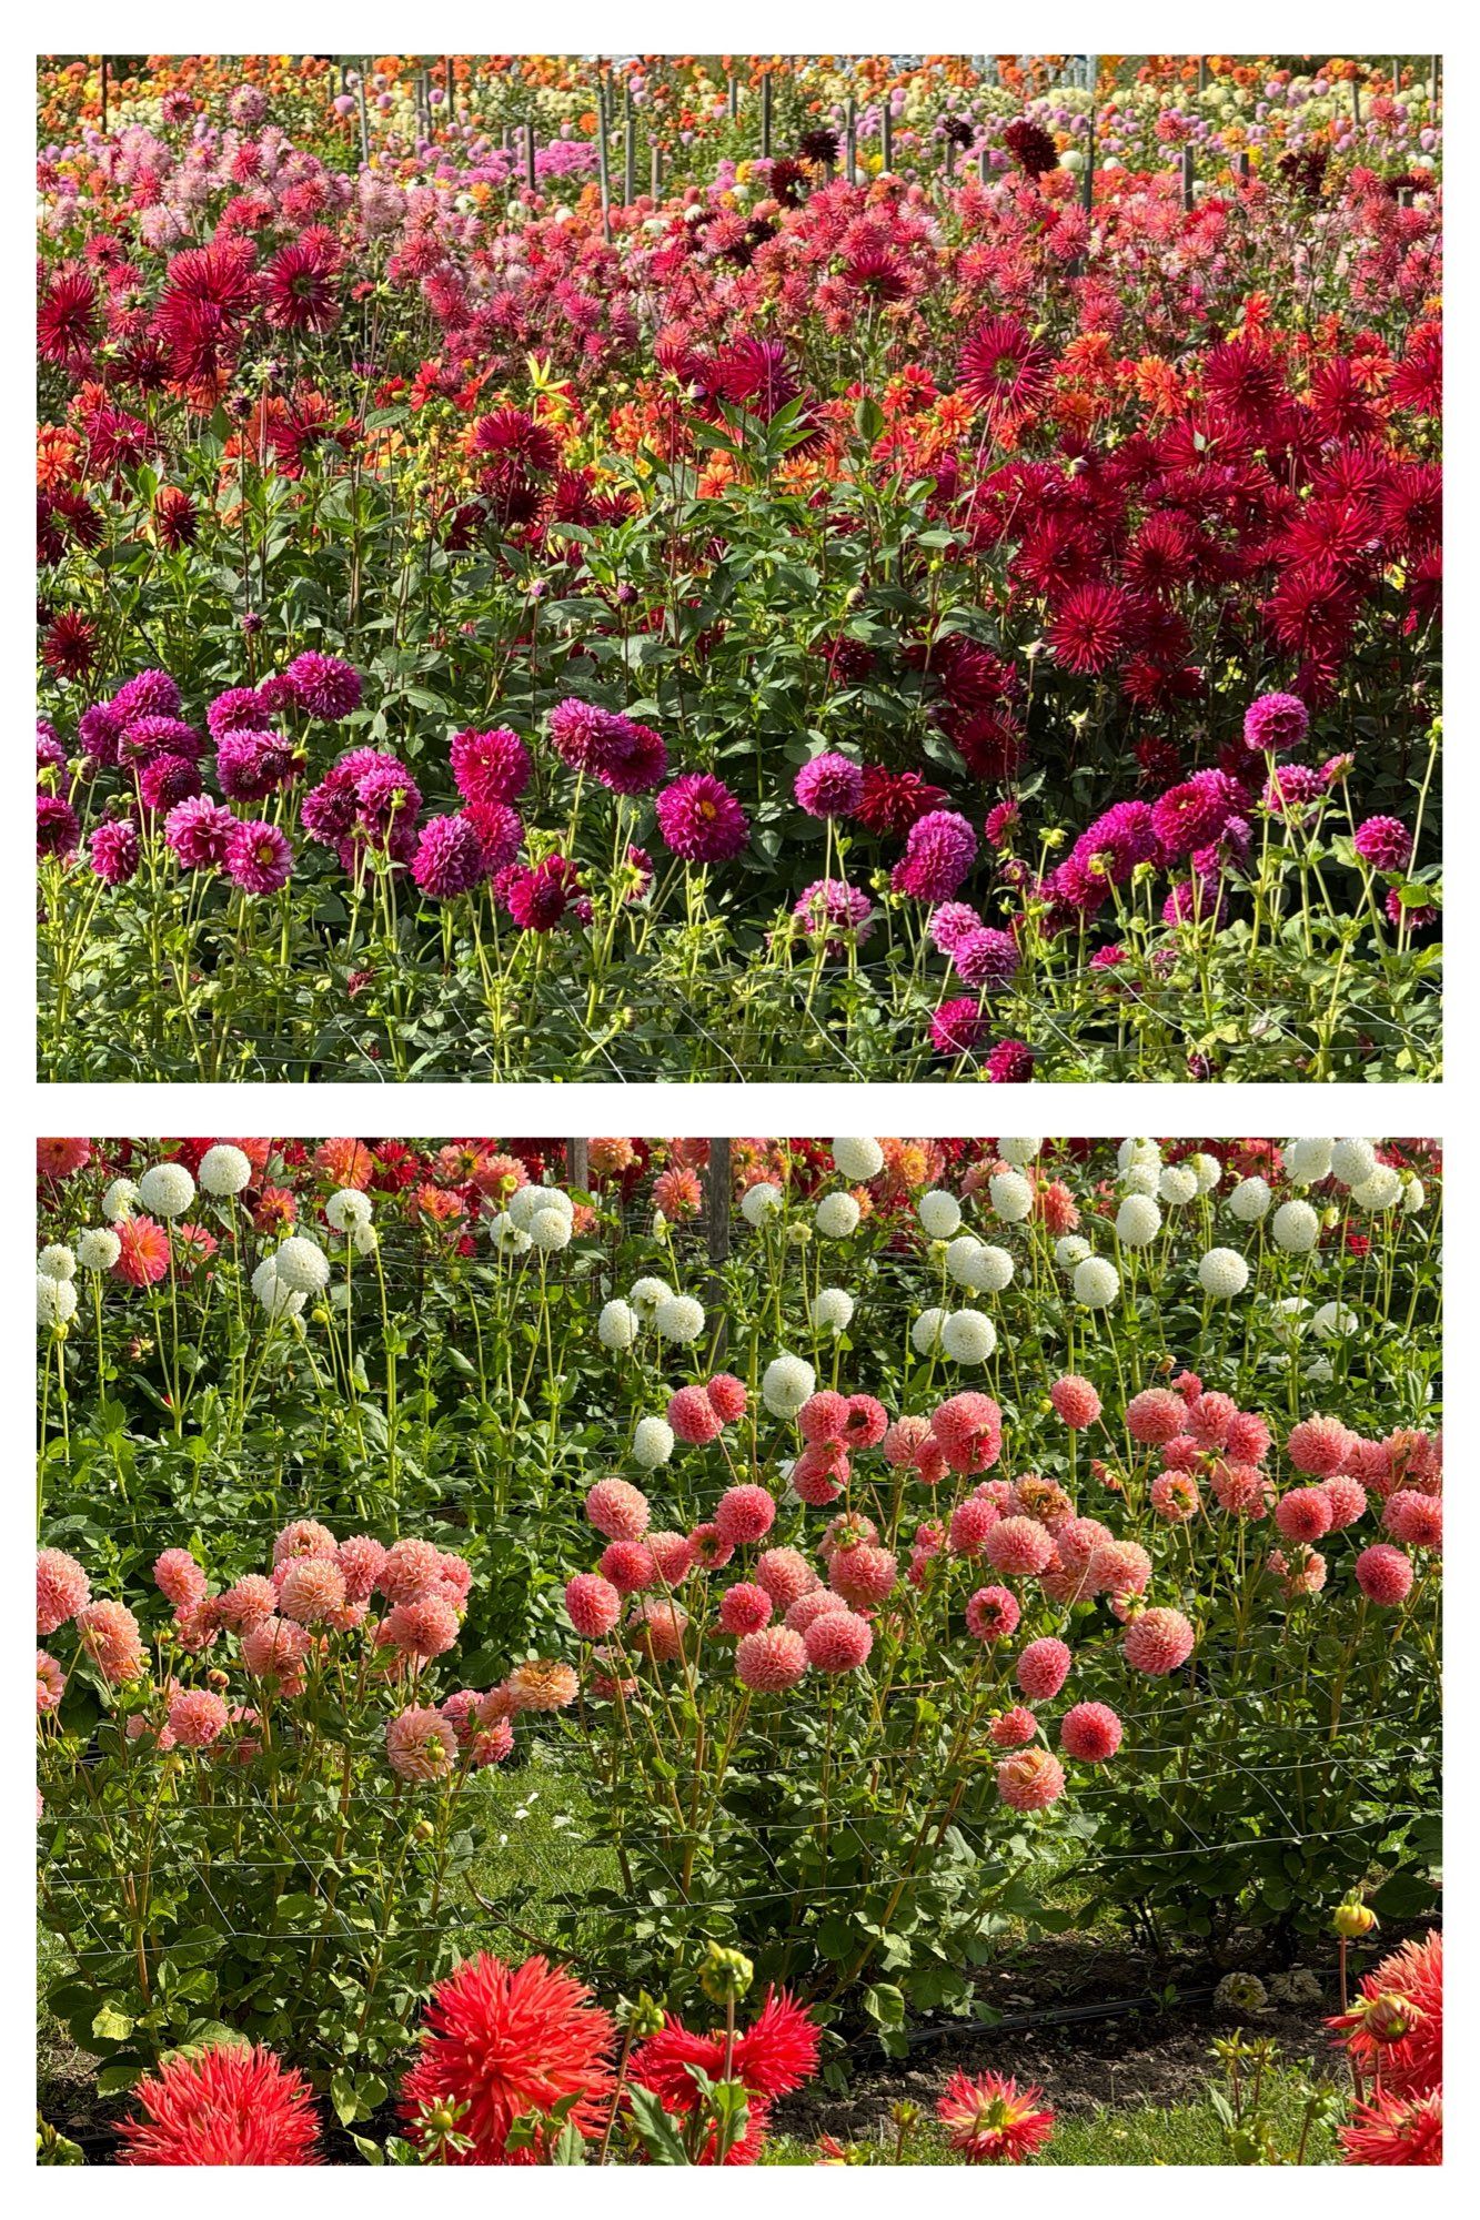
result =
[[[476,1776],[573,1674],[444,1689],[471,1572],[416,1536],[298,1518],[267,1574],[216,1587],[171,1547],[153,1583],[173,1616],[140,1625],[38,1556],[40,1900],[69,1958],[49,2005],[104,2091],[227,2027],[364,2118],[407,1998],[451,1962]]]

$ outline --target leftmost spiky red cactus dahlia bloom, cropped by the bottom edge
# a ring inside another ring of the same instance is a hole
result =
[[[298,2067],[262,2047],[216,2042],[176,2054],[133,2087],[142,2120],[122,2120],[122,2167],[316,2167],[318,2113]]]

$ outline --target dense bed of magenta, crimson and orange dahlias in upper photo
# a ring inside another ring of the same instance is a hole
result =
[[[1438,118],[1189,67],[49,73],[44,1068],[1429,1074]]]

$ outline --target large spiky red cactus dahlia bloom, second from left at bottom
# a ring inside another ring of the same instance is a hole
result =
[[[469,2140],[453,2151],[458,2167],[533,2167],[540,2151],[509,2151],[509,2129],[522,2113],[549,2113],[573,2098],[569,2122],[600,2136],[611,2102],[613,2027],[564,1967],[527,1958],[520,1967],[480,1951],[427,2005],[420,2058],[400,2085],[400,2109],[413,2142],[433,2107],[467,2111],[458,2127]]]

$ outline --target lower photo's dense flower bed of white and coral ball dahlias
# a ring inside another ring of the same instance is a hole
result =
[[[1060,1887],[1429,1909],[1433,1146],[564,1148],[40,1148],[47,1905],[120,2071],[222,2020],[373,2109],[536,1752],[602,1860],[542,1938],[887,2045]],[[160,1987],[202,1865],[247,1940]]]

